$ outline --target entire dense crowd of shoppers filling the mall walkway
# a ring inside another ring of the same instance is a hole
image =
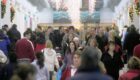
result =
[[[140,34],[134,25],[122,33],[117,26],[38,26],[24,37],[17,27],[0,29],[0,80],[140,80]]]

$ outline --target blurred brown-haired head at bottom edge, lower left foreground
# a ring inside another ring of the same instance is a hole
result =
[[[18,64],[15,75],[18,80],[35,80],[35,67],[31,64]]]

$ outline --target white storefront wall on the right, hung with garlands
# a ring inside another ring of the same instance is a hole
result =
[[[115,7],[114,22],[120,30],[123,26],[134,24],[140,31],[140,0],[122,0]]]

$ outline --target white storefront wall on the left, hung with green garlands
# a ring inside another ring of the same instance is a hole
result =
[[[35,29],[38,24],[37,9],[32,6],[27,0],[0,0],[0,27],[8,24],[18,25],[18,30],[21,34],[27,29]]]

